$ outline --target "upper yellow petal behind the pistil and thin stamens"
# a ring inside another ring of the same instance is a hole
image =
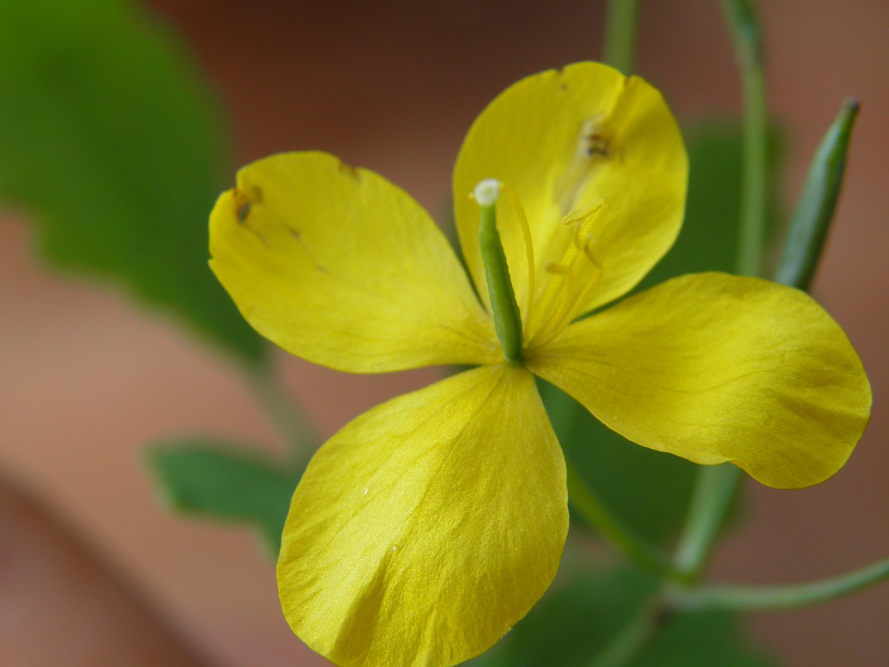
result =
[[[572,213],[604,201],[597,224],[580,239],[603,269],[596,289],[583,295],[582,313],[629,291],[669,250],[685,210],[687,171],[682,137],[661,93],[636,76],[583,62],[510,86],[472,125],[454,170],[457,226],[478,293],[487,299],[478,207],[469,197],[478,181],[502,181],[524,207],[537,296],[546,293],[549,280],[564,279],[546,269],[578,240],[577,226],[562,224],[563,218],[570,222],[579,217]],[[524,314],[528,269],[521,225],[515,206],[503,197],[497,213]],[[598,272],[589,276],[598,279]],[[546,319],[538,309],[526,334],[533,336]]]

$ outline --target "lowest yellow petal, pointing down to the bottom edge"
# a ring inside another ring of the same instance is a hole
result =
[[[284,526],[284,615],[339,665],[461,663],[546,591],[567,528],[565,462],[533,376],[467,371],[318,450]]]

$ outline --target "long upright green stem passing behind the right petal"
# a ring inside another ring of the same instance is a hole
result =
[[[762,32],[750,0],[723,0],[722,6],[733,36],[744,91],[741,236],[736,269],[742,276],[757,276],[765,232],[768,177]],[[700,579],[707,567],[719,528],[740,480],[741,471],[731,463],[708,466],[699,471],[674,559],[674,565],[683,573],[686,582]]]

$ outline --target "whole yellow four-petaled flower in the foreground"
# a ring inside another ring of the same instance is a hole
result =
[[[431,128],[430,128],[431,131]],[[453,178],[473,291],[445,237],[379,175],[324,153],[244,167],[211,218],[211,266],[257,331],[352,373],[469,365],[356,418],[293,495],[284,615],[340,665],[453,665],[556,575],[565,462],[533,374],[642,446],[759,481],[833,475],[870,390],[839,326],[789,287],[679,277],[612,308],[669,250],[687,160],[659,92],[595,63],[530,76],[472,126]],[[521,313],[506,361],[479,250],[495,179]]]

